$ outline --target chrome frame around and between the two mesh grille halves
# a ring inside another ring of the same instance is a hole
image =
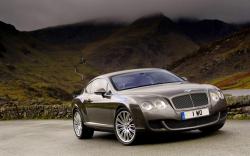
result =
[[[194,107],[194,102],[193,102],[193,99],[191,97],[191,94],[195,94],[195,93],[205,93],[207,95],[208,104],[207,105],[198,106],[198,107]],[[190,96],[190,99],[192,101],[193,107],[183,108],[183,109],[178,109],[178,108],[175,107],[172,99],[175,98],[175,97],[178,97],[178,96],[183,96],[183,95],[189,95]],[[208,90],[200,90],[200,89],[199,90],[191,89],[191,92],[188,92],[188,93],[184,92],[184,93],[181,93],[181,94],[177,94],[175,96],[170,97],[169,101],[170,101],[170,104],[173,106],[173,108],[175,110],[177,110],[177,111],[186,111],[186,110],[201,109],[201,108],[204,108],[204,107],[208,107],[210,105],[210,103],[211,103]]]

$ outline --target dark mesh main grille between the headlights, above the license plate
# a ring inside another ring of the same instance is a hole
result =
[[[185,109],[207,105],[208,98],[206,93],[191,93],[174,97],[172,102],[176,109]]]

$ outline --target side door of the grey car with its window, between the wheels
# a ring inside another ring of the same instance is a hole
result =
[[[96,79],[92,82],[91,93],[88,94],[85,107],[87,111],[88,121],[98,124],[110,125],[113,123],[113,102],[110,97],[104,97],[95,94],[98,89],[108,90],[108,81],[105,79]]]

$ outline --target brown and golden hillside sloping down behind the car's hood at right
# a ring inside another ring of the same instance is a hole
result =
[[[209,81],[222,88],[250,87],[250,29],[202,46],[172,64],[171,69],[192,81]],[[211,81],[213,80],[213,81]]]

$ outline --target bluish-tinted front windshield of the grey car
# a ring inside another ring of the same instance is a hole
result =
[[[178,76],[167,71],[141,71],[115,75],[111,77],[116,90],[150,86],[163,83],[182,82]]]

